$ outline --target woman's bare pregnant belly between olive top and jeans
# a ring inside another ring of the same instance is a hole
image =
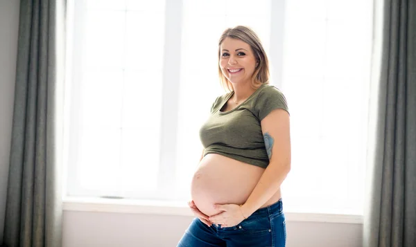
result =
[[[243,204],[257,185],[264,169],[219,154],[207,154],[193,175],[191,196],[208,216],[218,214],[214,204]],[[265,203],[279,200],[280,191]]]

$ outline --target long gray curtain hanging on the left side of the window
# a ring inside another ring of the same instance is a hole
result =
[[[10,170],[3,242],[62,246],[57,152],[64,1],[21,0]]]

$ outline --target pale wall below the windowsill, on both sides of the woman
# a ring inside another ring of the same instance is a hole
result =
[[[176,246],[192,217],[64,212],[63,247]],[[288,221],[287,247],[361,247],[363,226]]]

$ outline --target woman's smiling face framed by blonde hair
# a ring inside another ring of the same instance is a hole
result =
[[[256,57],[250,45],[240,39],[225,38],[220,44],[220,68],[233,84],[250,83],[256,68]]]

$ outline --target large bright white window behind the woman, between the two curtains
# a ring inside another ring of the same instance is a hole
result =
[[[67,194],[188,199],[224,93],[218,38],[246,25],[291,111],[286,209],[361,213],[372,3],[356,1],[71,1]]]

